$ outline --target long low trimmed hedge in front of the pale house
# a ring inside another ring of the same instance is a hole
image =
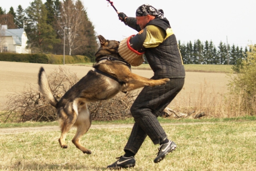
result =
[[[0,61],[63,64],[63,55],[0,53]],[[65,55],[65,63],[90,63],[90,59],[86,56],[81,55]]]

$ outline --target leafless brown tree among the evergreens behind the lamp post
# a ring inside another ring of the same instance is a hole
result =
[[[66,36],[68,53],[71,55],[72,51],[81,47],[84,42],[84,22],[86,22],[87,14],[84,10],[80,0],[74,3],[73,0],[64,0],[61,4],[61,14],[58,17],[58,26],[62,29],[60,36],[64,38]],[[68,28],[65,31],[65,28]],[[65,32],[65,35],[64,35]]]

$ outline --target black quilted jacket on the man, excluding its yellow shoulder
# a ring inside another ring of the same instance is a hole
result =
[[[129,27],[137,31],[141,30],[140,26],[136,24],[134,17],[128,17],[126,23]],[[151,20],[146,26],[148,25],[159,26],[164,30],[171,28],[166,18]],[[155,48],[145,48],[145,56],[155,76],[164,78],[185,78],[185,69],[175,34],[169,36],[163,43]]]

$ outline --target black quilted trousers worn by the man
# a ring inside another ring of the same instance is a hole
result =
[[[160,78],[154,76],[151,79]],[[184,80],[184,78],[173,78],[165,85],[143,88],[131,106],[135,123],[124,150],[137,154],[147,136],[155,145],[166,140],[167,135],[157,117],[183,88]]]

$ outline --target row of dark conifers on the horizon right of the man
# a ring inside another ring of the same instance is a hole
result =
[[[237,65],[241,60],[247,58],[247,51],[251,48],[230,46],[222,42],[216,48],[212,41],[195,40],[194,43],[180,43],[178,41],[180,53],[184,64],[223,64]]]

